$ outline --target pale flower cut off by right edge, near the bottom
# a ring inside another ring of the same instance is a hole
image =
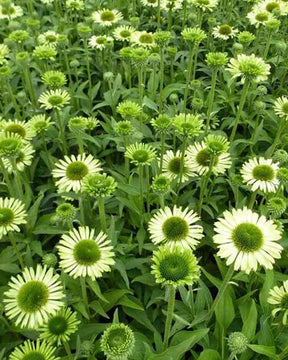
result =
[[[283,282],[282,286],[274,286],[269,292],[267,299],[269,304],[276,305],[277,307],[272,311],[272,316],[278,313],[283,313],[282,322],[287,325],[288,317],[288,280]]]

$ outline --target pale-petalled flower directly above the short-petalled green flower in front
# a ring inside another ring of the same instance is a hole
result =
[[[202,226],[195,224],[199,220],[193,210],[182,210],[177,206],[171,210],[166,206],[158,210],[149,221],[151,241],[156,245],[167,243],[170,247],[179,245],[193,250],[203,237]]]

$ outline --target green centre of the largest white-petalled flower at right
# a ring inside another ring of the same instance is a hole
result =
[[[233,230],[232,240],[239,251],[254,252],[263,244],[263,233],[254,224],[242,223]]]

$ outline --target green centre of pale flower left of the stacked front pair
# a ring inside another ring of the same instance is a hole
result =
[[[74,258],[80,265],[93,265],[101,258],[98,244],[90,239],[79,241],[74,247]]]

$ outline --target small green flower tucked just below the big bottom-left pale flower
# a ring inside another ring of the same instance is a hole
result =
[[[80,321],[77,313],[69,308],[59,310],[55,315],[50,316],[48,321],[39,329],[40,339],[49,343],[56,343],[57,346],[69,341],[70,335],[78,330]]]

